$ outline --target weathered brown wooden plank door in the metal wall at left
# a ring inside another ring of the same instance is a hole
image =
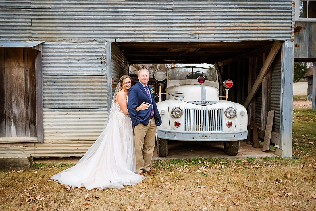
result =
[[[35,53],[0,49],[0,137],[36,137]]]

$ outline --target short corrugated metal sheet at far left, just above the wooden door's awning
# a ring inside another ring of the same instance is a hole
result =
[[[0,8],[0,40],[32,40],[31,18],[31,9]]]

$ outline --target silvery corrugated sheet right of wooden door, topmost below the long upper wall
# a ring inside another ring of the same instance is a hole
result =
[[[43,75],[106,75],[101,42],[45,42],[42,58]]]

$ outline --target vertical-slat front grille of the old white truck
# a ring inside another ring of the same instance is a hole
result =
[[[184,108],[185,131],[223,131],[224,108]]]

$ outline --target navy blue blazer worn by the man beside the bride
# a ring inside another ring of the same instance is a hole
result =
[[[148,85],[148,84],[147,84]],[[148,125],[150,119],[151,108],[154,109],[154,118],[156,125],[161,125],[161,117],[159,115],[159,111],[156,106],[154,94],[151,93],[152,87],[149,86],[149,93],[151,94],[152,102],[150,102],[149,96],[147,95],[143,84],[138,81],[137,84],[131,86],[128,90],[128,102],[127,108],[128,113],[131,116],[131,121],[133,123],[133,127],[138,125],[139,123],[143,123],[144,126]],[[150,108],[145,110],[136,111],[137,107],[140,106],[143,102],[150,103]]]

